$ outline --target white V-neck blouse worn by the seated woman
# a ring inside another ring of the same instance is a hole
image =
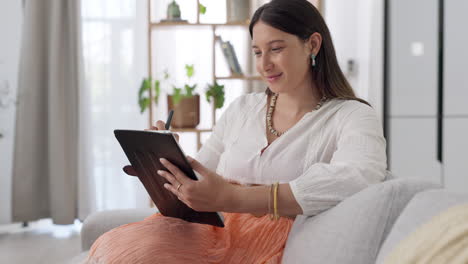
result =
[[[304,215],[316,215],[382,181],[386,141],[373,108],[333,99],[268,145],[267,95],[246,94],[224,112],[196,159],[241,184],[289,183]]]

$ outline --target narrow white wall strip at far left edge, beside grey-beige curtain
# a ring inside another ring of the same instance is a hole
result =
[[[11,221],[11,169],[22,1],[0,1],[0,224]]]

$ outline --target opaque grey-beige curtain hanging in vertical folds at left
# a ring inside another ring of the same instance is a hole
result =
[[[26,1],[18,78],[13,221],[70,224],[77,205],[79,18],[75,0]]]

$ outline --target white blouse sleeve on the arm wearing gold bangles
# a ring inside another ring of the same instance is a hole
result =
[[[375,111],[352,110],[337,129],[330,163],[312,164],[290,187],[304,215],[316,215],[386,176],[386,141]]]

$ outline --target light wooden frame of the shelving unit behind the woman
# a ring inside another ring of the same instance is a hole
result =
[[[200,12],[199,12],[199,4],[200,1],[196,0],[197,3],[197,20],[196,23],[188,23],[188,22],[153,22],[152,17],[151,17],[151,1],[148,0],[148,76],[152,76],[153,74],[153,67],[152,67],[152,49],[153,47],[153,41],[152,41],[152,32],[154,30],[157,30],[159,28],[166,28],[166,27],[210,27],[212,31],[212,38],[213,38],[213,46],[212,46],[212,81],[217,81],[217,80],[244,80],[244,81],[259,81],[261,80],[260,76],[250,76],[250,75],[232,75],[232,76],[216,76],[216,41],[218,41],[219,36],[216,35],[216,29],[219,27],[248,27],[249,23],[248,21],[245,22],[236,22],[236,23],[214,23],[214,24],[208,24],[208,23],[200,23]],[[150,98],[152,98],[152,91],[150,89]],[[149,106],[149,120],[148,123],[149,125],[153,124],[154,122],[154,114],[153,114],[153,102],[151,101],[150,106]],[[212,114],[212,126],[215,125],[216,123],[216,108],[214,106],[214,102],[212,103],[212,109],[211,109],[211,114]],[[211,128],[205,128],[205,129],[199,129],[199,128],[188,128],[188,129],[171,129],[174,132],[179,132],[179,133],[196,133],[196,138],[197,138],[197,149],[200,149],[201,147],[201,133],[205,132],[211,132]]]

